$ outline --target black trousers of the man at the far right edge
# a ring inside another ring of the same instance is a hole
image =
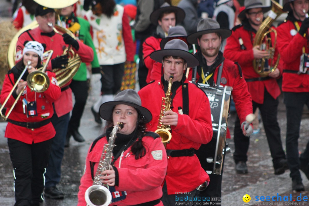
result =
[[[309,92],[284,92],[284,103],[286,105],[286,157],[290,167],[290,177],[301,179],[299,173],[298,138],[303,107],[309,107]],[[301,158],[309,160],[309,142]]]

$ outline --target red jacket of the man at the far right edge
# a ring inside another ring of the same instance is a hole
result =
[[[294,21],[297,20],[292,15],[288,15],[287,21],[277,27],[277,45],[283,60],[283,69],[298,71],[303,47],[305,52],[309,53],[309,44],[307,34],[306,37],[301,36],[294,26]],[[300,21],[297,23],[299,27],[302,25]],[[291,33],[294,33],[293,36]],[[283,72],[282,91],[309,92],[309,75]]]

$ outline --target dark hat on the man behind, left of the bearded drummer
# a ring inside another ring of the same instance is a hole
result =
[[[158,25],[159,16],[166,11],[175,12],[176,24],[181,23],[186,16],[186,13],[182,8],[177,6],[171,6],[169,3],[165,2],[161,5],[161,7],[150,14],[150,22],[154,25]]]

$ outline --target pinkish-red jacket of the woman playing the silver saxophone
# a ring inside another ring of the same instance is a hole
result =
[[[119,186],[115,187],[116,191],[126,191],[125,200],[116,202],[116,205],[135,205],[152,200],[157,200],[162,197],[162,187],[166,168],[167,156],[161,138],[154,139],[153,137],[143,137],[143,145],[146,147],[146,155],[141,159],[136,160],[135,155],[129,147],[123,153],[121,166],[119,167],[118,158],[114,164],[118,170]],[[86,170],[80,180],[78,192],[78,206],[86,206],[85,191],[93,183],[91,179],[90,163],[95,162],[94,175],[98,168],[98,162],[102,155],[102,148],[107,144],[106,137],[100,139],[92,151],[87,154]],[[152,153],[162,151],[162,159],[154,159]],[[112,204],[111,204],[112,205]],[[157,206],[163,206],[160,202]]]

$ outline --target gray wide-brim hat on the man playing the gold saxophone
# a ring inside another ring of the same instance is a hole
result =
[[[181,57],[186,60],[188,67],[195,67],[200,64],[198,59],[189,53],[188,45],[180,39],[170,40],[165,44],[164,49],[150,54],[150,58],[157,62],[162,62],[165,56]]]

